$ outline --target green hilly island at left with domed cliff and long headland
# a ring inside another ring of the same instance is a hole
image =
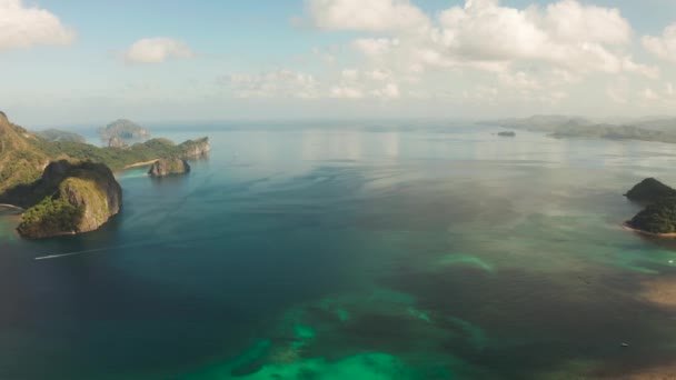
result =
[[[180,144],[152,139],[126,149],[50,141],[0,112],[0,203],[26,209],[17,230],[27,239],[89,232],[120,210],[122,191],[113,171],[209,151],[208,138]]]

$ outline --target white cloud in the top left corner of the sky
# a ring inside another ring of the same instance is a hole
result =
[[[74,31],[59,18],[21,0],[0,0],[0,51],[32,46],[64,46],[74,39]]]

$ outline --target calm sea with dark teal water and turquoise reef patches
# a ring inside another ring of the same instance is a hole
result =
[[[497,131],[166,131],[212,154],[120,173],[101,230],[27,242],[0,214],[0,379],[668,372],[676,309],[649,290],[676,289],[676,244],[619,223],[640,179],[676,184],[675,147]]]

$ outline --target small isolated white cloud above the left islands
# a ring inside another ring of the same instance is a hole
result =
[[[186,42],[168,37],[140,39],[125,53],[125,60],[130,63],[162,63],[172,58],[192,57],[195,53]]]

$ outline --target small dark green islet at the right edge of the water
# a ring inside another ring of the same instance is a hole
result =
[[[647,204],[632,220],[625,222],[625,226],[639,232],[676,236],[676,190],[648,178],[625,196],[634,202]]]

